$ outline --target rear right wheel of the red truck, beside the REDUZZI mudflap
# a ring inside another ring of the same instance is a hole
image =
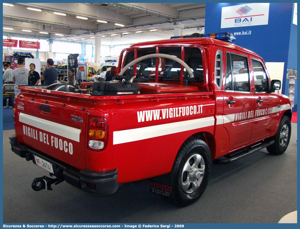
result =
[[[180,147],[172,168],[173,202],[185,207],[199,199],[208,184],[210,168],[208,145],[198,138],[188,138]]]

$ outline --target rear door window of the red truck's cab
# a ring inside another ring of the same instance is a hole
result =
[[[250,92],[248,58],[226,54],[226,91]]]

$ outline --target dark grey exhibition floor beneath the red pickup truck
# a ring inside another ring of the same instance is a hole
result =
[[[150,182],[126,183],[113,195],[94,197],[70,184],[35,192],[48,175],[10,150],[3,131],[4,223],[277,223],[297,210],[297,124],[286,153],[260,150],[228,165],[212,165],[202,197],[179,208],[150,193]]]

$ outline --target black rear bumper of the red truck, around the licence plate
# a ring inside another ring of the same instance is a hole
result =
[[[64,177],[64,180],[85,192],[95,195],[113,194],[117,191],[119,184],[118,169],[108,171],[93,171],[88,168],[76,169],[64,162],[61,162],[41,151],[38,151],[26,144],[18,144],[16,135],[10,135],[11,150],[27,161],[35,163],[33,155],[39,156],[53,165],[54,176]]]

